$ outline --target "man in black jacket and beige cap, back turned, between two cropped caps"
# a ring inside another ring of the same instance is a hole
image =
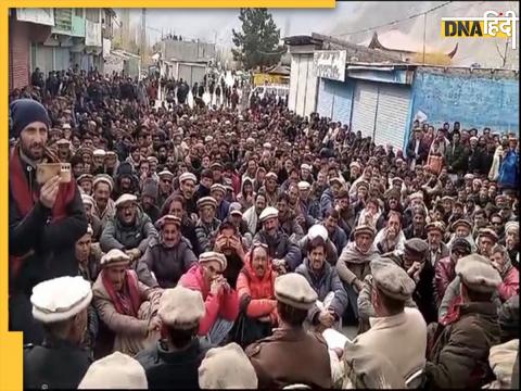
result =
[[[204,315],[199,291],[178,286],[163,292],[157,316],[164,338],[136,356],[151,390],[199,388],[199,367],[212,348],[196,337]]]

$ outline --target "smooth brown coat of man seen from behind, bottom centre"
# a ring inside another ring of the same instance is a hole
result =
[[[320,335],[303,328],[276,329],[274,335],[246,348],[259,388],[304,383],[331,388],[328,345]]]

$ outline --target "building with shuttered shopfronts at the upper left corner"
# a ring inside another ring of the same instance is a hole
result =
[[[11,9],[9,88],[25,87],[38,67],[103,71],[103,39],[112,40],[112,9]]]

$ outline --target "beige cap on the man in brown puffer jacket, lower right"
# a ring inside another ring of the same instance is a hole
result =
[[[492,266],[490,261],[479,254],[471,254],[459,258],[456,264],[456,274],[470,290],[482,293],[492,293],[501,283],[501,276]]]

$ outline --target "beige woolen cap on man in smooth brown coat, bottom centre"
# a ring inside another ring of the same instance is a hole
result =
[[[318,299],[309,282],[297,273],[276,278],[275,297],[279,302],[300,310],[309,310]]]

